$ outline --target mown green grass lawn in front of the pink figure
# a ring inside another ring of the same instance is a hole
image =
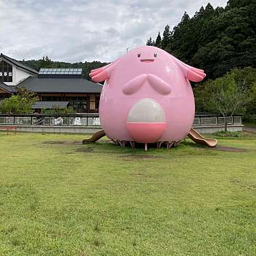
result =
[[[0,255],[256,255],[256,135],[122,149],[0,132]]]

